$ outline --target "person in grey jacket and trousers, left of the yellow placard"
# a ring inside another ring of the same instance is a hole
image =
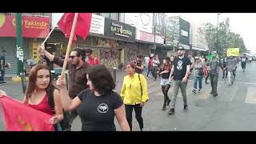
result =
[[[218,74],[219,74],[219,67],[222,68],[222,62],[216,57],[216,51],[212,51],[211,55],[212,58],[209,58],[206,62],[207,68],[210,70],[210,85],[211,85],[211,92],[214,97],[218,96],[217,93],[217,86],[218,86]]]

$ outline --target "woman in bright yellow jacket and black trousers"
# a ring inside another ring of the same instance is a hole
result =
[[[121,97],[126,107],[126,118],[132,130],[132,113],[138,121],[140,130],[143,130],[142,107],[149,99],[147,94],[146,78],[142,74],[135,73],[136,65],[129,62],[126,66],[127,76],[123,78]]]

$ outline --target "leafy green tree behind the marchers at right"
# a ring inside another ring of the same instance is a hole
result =
[[[230,19],[220,22],[214,26],[210,22],[202,24],[200,27],[203,34],[205,34],[206,43],[209,51],[216,50],[218,54],[225,54],[227,48],[240,48],[240,53],[246,52],[246,46],[240,34],[235,34],[230,30]]]

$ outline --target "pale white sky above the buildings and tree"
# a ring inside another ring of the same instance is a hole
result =
[[[201,25],[203,22],[210,22],[217,25],[218,22],[230,18],[230,30],[240,34],[245,42],[247,50],[256,54],[256,13],[166,13],[168,16],[181,15],[188,22]],[[217,17],[218,16],[218,17]]]

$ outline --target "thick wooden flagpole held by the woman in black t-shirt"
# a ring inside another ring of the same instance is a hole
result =
[[[71,32],[70,32],[70,39],[69,39],[69,43],[68,43],[67,48],[66,48],[66,55],[65,55],[64,64],[62,66],[62,74],[61,74],[62,79],[65,78],[66,64],[67,64],[68,58],[70,56],[70,48],[71,48],[71,45],[72,45],[72,41],[73,41],[73,37],[74,37],[74,29],[75,29],[75,26],[77,25],[77,20],[78,20],[78,13],[74,13],[74,21],[73,21],[72,29],[71,29]]]

